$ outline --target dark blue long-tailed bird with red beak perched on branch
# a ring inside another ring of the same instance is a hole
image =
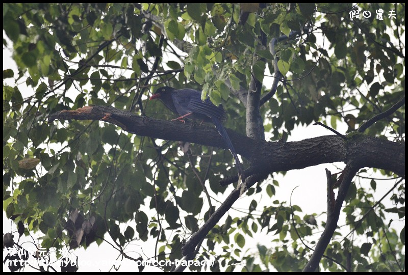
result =
[[[221,105],[217,107],[209,98],[202,101],[201,92],[193,89],[176,90],[171,87],[161,87],[150,97],[150,100],[156,98],[159,98],[173,113],[180,115],[179,118],[173,120],[184,122],[184,118],[191,118],[214,123],[215,128],[234,156],[235,166],[238,170],[237,190],[240,190],[241,196],[246,191],[245,176],[235,148],[222,125],[222,121],[226,119],[224,108]]]

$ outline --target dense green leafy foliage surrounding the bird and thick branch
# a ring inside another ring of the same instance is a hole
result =
[[[350,18],[352,10],[360,17]],[[110,105],[170,120],[147,96],[160,85],[187,87],[223,104],[227,128],[285,143],[295,126],[317,121],[354,132],[405,94],[404,4],[12,3],[3,4],[3,28],[17,64],[3,71],[3,209],[20,236],[41,232],[47,249],[105,239],[130,260],[182,259],[183,243],[232,189],[220,180],[236,173],[226,150],[97,121],[47,123],[50,114]],[[259,92],[261,123],[246,114],[254,106],[248,91]],[[364,134],[404,144],[404,106]],[[390,185],[387,203],[374,196],[378,180],[360,183],[373,172],[389,179],[381,182]],[[279,199],[278,185],[260,179],[245,194],[254,199],[240,205],[246,210],[228,212],[195,259],[215,259],[213,271],[302,270],[325,226],[314,217],[328,210],[304,213]],[[360,169],[338,223],[345,231],[336,231],[319,268],[404,271],[404,206],[404,175]],[[267,241],[245,253],[261,230]],[[123,251],[143,242],[156,245],[154,255]]]

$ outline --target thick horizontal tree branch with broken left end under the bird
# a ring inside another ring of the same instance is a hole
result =
[[[156,139],[184,141],[227,149],[214,127],[198,123],[179,123],[140,117],[111,106],[87,106],[73,111],[60,111],[48,117],[54,120],[101,120],[120,126],[124,130]],[[326,135],[299,142],[256,141],[230,129],[228,135],[238,154],[254,167],[252,173],[272,173],[303,169],[321,163],[349,162],[405,175],[405,145],[376,137],[354,133],[348,140]],[[249,176],[249,175],[248,175]]]

